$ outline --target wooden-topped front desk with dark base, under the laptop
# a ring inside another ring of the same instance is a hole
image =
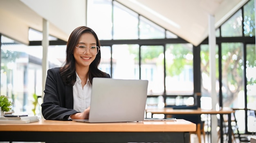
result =
[[[42,120],[29,124],[0,124],[0,141],[77,143],[189,143],[196,125],[183,120],[125,123],[80,123]]]

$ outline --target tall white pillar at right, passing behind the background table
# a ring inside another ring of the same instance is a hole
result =
[[[216,35],[215,35],[215,17],[209,14],[209,62],[210,62],[210,78],[211,78],[211,103],[212,109],[216,109]],[[220,56],[219,56],[220,57]],[[211,143],[217,143],[217,126],[218,120],[216,115],[211,115]]]

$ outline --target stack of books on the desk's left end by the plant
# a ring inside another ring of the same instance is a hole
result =
[[[39,121],[37,116],[28,115],[4,115],[0,117],[0,123],[32,123]]]

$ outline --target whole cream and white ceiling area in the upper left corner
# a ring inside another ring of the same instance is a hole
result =
[[[0,0],[0,33],[26,45],[28,30],[43,31],[67,41],[74,28],[85,25],[86,0]]]

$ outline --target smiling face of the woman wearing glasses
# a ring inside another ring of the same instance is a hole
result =
[[[78,49],[78,47],[87,47],[87,50],[82,50],[81,48]],[[81,37],[79,38],[78,43],[76,44],[76,47],[74,47],[74,58],[76,61],[76,67],[89,67],[90,64],[92,63],[92,61],[94,61],[94,59],[96,58],[95,54],[91,54],[90,53],[90,47],[92,46],[97,46],[97,42],[96,39],[94,38],[94,36],[91,33],[83,33],[81,35]],[[79,54],[78,50],[80,51],[80,53],[84,53],[84,54]],[[83,52],[81,52],[83,51]]]

